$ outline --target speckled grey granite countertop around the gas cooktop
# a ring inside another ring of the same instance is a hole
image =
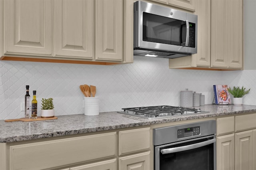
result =
[[[70,134],[113,130],[128,127],[140,127],[190,119],[236,115],[240,113],[256,113],[256,106],[252,105],[205,105],[201,110],[210,113],[185,115],[158,119],[144,119],[117,112],[100,113],[98,116],[66,115],[57,116],[58,119],[32,122],[5,122],[0,120],[0,143],[32,140]]]

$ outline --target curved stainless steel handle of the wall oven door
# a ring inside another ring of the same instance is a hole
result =
[[[216,142],[216,138],[213,138],[211,140],[207,140],[207,141],[204,141],[204,142],[196,143],[196,144],[190,144],[190,145],[180,146],[180,147],[176,147],[176,148],[162,149],[161,153],[162,154],[170,154],[170,153],[174,153],[174,152],[181,152],[181,151],[184,151],[184,150],[200,148],[202,146],[206,146],[206,145],[212,144],[214,142]]]

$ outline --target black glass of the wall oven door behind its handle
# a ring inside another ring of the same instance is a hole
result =
[[[214,138],[214,137],[212,137]],[[161,150],[188,146],[210,140],[204,138],[160,148],[159,170],[214,170],[214,143],[199,148],[162,154]]]

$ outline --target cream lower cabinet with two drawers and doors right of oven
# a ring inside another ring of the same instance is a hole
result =
[[[256,170],[256,113],[217,118],[217,169]]]

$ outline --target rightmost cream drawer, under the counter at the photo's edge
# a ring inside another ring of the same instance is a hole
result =
[[[248,115],[239,115],[236,116],[236,126],[235,130],[246,130],[251,128],[256,128],[256,113],[248,114]]]

